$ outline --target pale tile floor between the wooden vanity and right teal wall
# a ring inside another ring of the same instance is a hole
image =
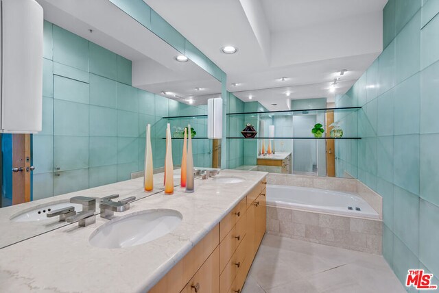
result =
[[[405,292],[381,255],[265,234],[242,293]]]

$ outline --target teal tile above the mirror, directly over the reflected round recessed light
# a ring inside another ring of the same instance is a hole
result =
[[[185,37],[154,10],[151,10],[151,31],[181,53],[185,53]]]

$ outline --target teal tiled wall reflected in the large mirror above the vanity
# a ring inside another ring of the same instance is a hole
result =
[[[154,168],[164,165],[167,123],[173,131],[191,123],[198,137],[207,136],[206,118],[163,119],[206,114],[206,106],[134,88],[130,60],[47,21],[44,31],[43,131],[33,138],[34,199],[130,179],[144,168],[148,123]],[[193,149],[195,166],[211,166],[210,140],[193,140]],[[180,140],[173,140],[172,151],[174,164],[180,164]]]

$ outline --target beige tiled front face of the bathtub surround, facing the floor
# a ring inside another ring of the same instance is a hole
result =
[[[343,249],[381,254],[381,220],[268,206],[267,232]]]

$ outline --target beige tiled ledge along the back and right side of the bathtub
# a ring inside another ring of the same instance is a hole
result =
[[[357,179],[270,173],[267,177],[267,183],[281,186],[300,186],[340,192],[354,192],[377,211],[380,219],[383,218],[382,197]]]

